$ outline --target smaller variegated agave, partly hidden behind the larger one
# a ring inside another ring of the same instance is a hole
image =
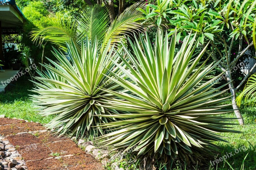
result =
[[[97,40],[91,43],[86,39],[82,42],[82,50],[76,49],[73,42],[67,44],[68,57],[54,49],[53,54],[58,62],[48,59],[51,63],[44,64],[46,71],[37,73],[34,82],[37,87],[33,90],[31,100],[38,107],[40,114],[55,115],[46,125],[54,128],[60,135],[68,133],[71,136],[95,136],[103,131],[95,126],[101,123],[112,122],[115,118],[95,115],[112,115],[114,109],[99,106],[108,98],[115,96],[101,90],[122,91],[107,76],[108,70],[117,75],[121,73],[111,60],[118,61],[118,55],[112,53],[110,41],[105,50],[98,50]],[[108,49],[111,49],[108,51]],[[121,76],[122,77],[122,76]],[[87,133],[88,132],[88,133]]]

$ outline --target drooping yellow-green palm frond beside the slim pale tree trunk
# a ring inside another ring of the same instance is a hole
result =
[[[249,102],[250,105],[255,106],[255,95],[256,90],[256,74],[253,74],[244,86],[244,90],[236,97],[237,105],[240,106],[242,99],[245,96],[245,101]]]

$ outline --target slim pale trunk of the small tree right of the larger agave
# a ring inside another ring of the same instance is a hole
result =
[[[244,125],[244,119],[238,109],[238,106],[236,104],[236,88],[234,87],[233,81],[232,81],[232,77],[231,77],[231,69],[228,68],[226,71],[226,78],[228,81],[228,87],[230,88],[230,92],[232,95],[232,107],[234,109],[234,112],[236,114],[236,117],[238,118],[238,122],[240,123],[240,125]]]

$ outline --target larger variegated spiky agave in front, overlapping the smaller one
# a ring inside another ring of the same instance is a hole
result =
[[[106,139],[105,146],[170,163],[190,154],[191,159],[204,158],[217,147],[211,141],[225,141],[217,133],[237,132],[226,129],[233,118],[218,116],[233,111],[225,109],[229,105],[219,105],[230,97],[215,98],[227,91],[220,91],[225,85],[213,88],[215,78],[204,79],[218,63],[198,65],[206,47],[191,59],[197,41],[190,34],[175,54],[176,34],[169,45],[167,33],[164,36],[159,31],[155,45],[147,34],[146,39],[141,38],[142,48],[137,39],[134,43],[129,40],[135,56],[123,45],[129,60],[117,54],[125,66],[112,61],[131,81],[113,71],[115,78],[106,76],[132,94],[104,89],[124,100],[108,98],[100,106],[129,113],[98,115],[121,119],[100,125],[117,130],[98,138]]]

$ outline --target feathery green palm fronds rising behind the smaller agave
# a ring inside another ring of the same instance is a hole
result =
[[[60,15],[48,18],[47,23],[31,32],[31,37],[39,44],[43,41],[52,42],[64,51],[67,51],[66,42],[73,41],[76,48],[81,49],[82,39],[88,37],[93,43],[97,37],[98,44],[103,44],[102,51],[109,40],[111,45],[117,44],[122,41],[123,35],[143,29],[142,21],[138,20],[143,17],[143,13],[137,8],[145,8],[145,5],[133,4],[110,24],[108,10],[105,7],[90,5],[82,11],[81,17],[76,18],[75,22]]]

